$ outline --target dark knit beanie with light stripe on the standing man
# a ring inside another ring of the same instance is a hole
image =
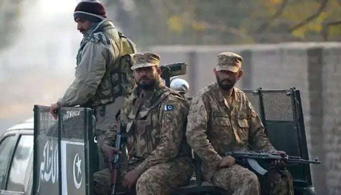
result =
[[[74,20],[81,18],[92,22],[100,22],[107,18],[106,11],[99,0],[81,0],[74,12]]]

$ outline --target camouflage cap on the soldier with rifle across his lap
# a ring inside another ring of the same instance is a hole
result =
[[[223,52],[218,54],[218,64],[216,70],[228,70],[231,72],[238,72],[242,67],[243,58],[238,54],[231,52]]]

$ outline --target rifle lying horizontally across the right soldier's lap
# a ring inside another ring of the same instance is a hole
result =
[[[227,152],[225,156],[232,156],[236,161],[247,162],[248,165],[257,173],[264,176],[267,173],[261,165],[258,164],[257,159],[264,160],[283,160],[286,163],[298,163],[298,164],[320,164],[319,157],[316,156],[314,160],[304,160],[300,156],[281,156],[274,153],[256,153],[256,152]]]

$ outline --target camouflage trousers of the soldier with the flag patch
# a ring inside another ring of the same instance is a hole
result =
[[[128,171],[136,166],[137,164],[128,166]],[[137,179],[135,189],[127,192],[127,195],[170,195],[174,189],[189,182],[193,171],[190,158],[181,157],[167,163],[156,164]],[[118,192],[126,192],[126,189],[120,186],[124,174],[121,173],[118,178]],[[108,195],[110,178],[109,169],[94,174],[95,195]]]

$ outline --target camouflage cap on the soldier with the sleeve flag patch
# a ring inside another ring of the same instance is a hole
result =
[[[152,52],[141,52],[133,55],[132,70],[143,67],[159,66],[160,56]]]

